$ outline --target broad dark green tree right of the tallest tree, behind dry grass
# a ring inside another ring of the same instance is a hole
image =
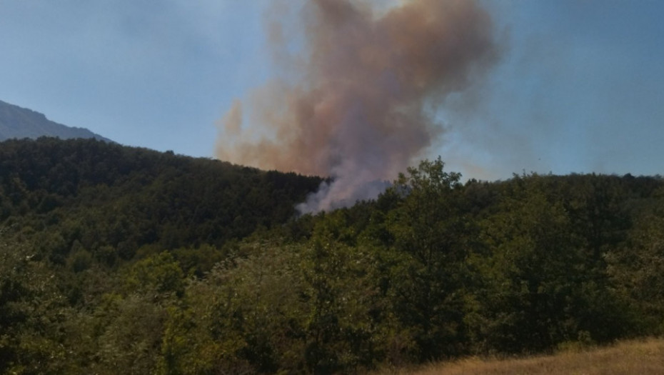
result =
[[[620,305],[586,267],[585,241],[539,176],[518,178],[513,196],[483,222],[488,256],[482,269],[476,341],[483,351],[543,351],[580,337],[620,335]]]

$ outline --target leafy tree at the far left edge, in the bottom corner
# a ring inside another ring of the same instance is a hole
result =
[[[66,372],[70,364],[61,345],[66,299],[36,252],[4,235],[0,231],[0,371]]]

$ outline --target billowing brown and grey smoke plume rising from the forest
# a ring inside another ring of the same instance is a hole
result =
[[[375,5],[375,4],[374,4]],[[280,14],[276,11],[275,14]],[[271,19],[279,79],[236,101],[222,120],[219,159],[330,176],[303,213],[375,197],[443,131],[448,94],[491,66],[491,18],[472,0],[310,0],[292,24]],[[293,56],[294,55],[294,56]]]

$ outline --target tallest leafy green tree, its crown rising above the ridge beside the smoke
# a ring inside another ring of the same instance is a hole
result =
[[[463,215],[461,175],[443,166],[440,158],[421,162],[381,198],[401,196],[388,213],[389,249],[396,259],[390,293],[418,361],[464,351],[463,286],[472,231]]]

